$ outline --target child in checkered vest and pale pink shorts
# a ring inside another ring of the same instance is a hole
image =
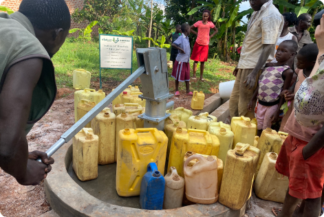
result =
[[[285,99],[280,96],[281,91],[290,86],[294,71],[287,65],[290,58],[294,58],[298,48],[296,41],[283,41],[276,52],[277,62],[268,62],[259,78],[259,84],[252,99],[248,103],[248,111],[252,111],[252,104],[259,102],[257,109],[258,136],[262,130],[271,128],[271,124],[279,119],[280,108]]]

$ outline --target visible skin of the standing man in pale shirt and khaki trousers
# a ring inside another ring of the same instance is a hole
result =
[[[267,0],[250,0],[250,6],[254,11],[258,11],[261,9],[262,5],[266,2],[267,2]],[[259,56],[257,65],[252,70],[252,72],[248,76],[246,76],[246,80],[244,80],[244,83],[246,84],[245,87],[247,89],[251,90],[251,89],[253,89],[253,87],[255,87],[255,82],[257,80],[257,74],[259,73],[259,71],[261,70],[263,65],[268,60],[268,57],[273,49],[274,49],[274,45],[267,45],[267,44],[263,45],[262,53]],[[239,71],[239,69],[237,67],[235,67],[235,69],[233,71],[233,76],[236,77],[238,71]]]

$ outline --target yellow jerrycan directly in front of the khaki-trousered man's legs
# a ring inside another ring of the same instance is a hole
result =
[[[233,117],[230,127],[234,133],[233,148],[237,143],[255,144],[255,130],[257,126],[250,122],[249,117]]]

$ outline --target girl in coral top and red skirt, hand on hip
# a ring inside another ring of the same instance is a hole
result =
[[[198,32],[193,29],[197,28]],[[213,34],[209,35],[210,28],[214,30]],[[191,60],[193,60],[193,80],[196,80],[197,63],[200,62],[200,80],[204,82],[202,75],[204,73],[205,62],[208,58],[208,45],[210,38],[213,38],[217,34],[218,30],[214,23],[210,21],[210,11],[204,10],[202,12],[202,21],[191,25],[191,32],[197,35],[195,45],[193,46],[193,54],[191,54]]]

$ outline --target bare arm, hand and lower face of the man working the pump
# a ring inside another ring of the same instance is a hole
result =
[[[53,56],[63,45],[68,30],[38,30],[36,38]],[[30,114],[32,92],[41,76],[43,59],[31,58],[14,64],[0,93],[0,167],[21,185],[37,185],[46,178],[54,163],[45,152],[29,152],[25,124]],[[14,108],[14,109],[13,109]],[[35,161],[41,158],[42,163]]]

